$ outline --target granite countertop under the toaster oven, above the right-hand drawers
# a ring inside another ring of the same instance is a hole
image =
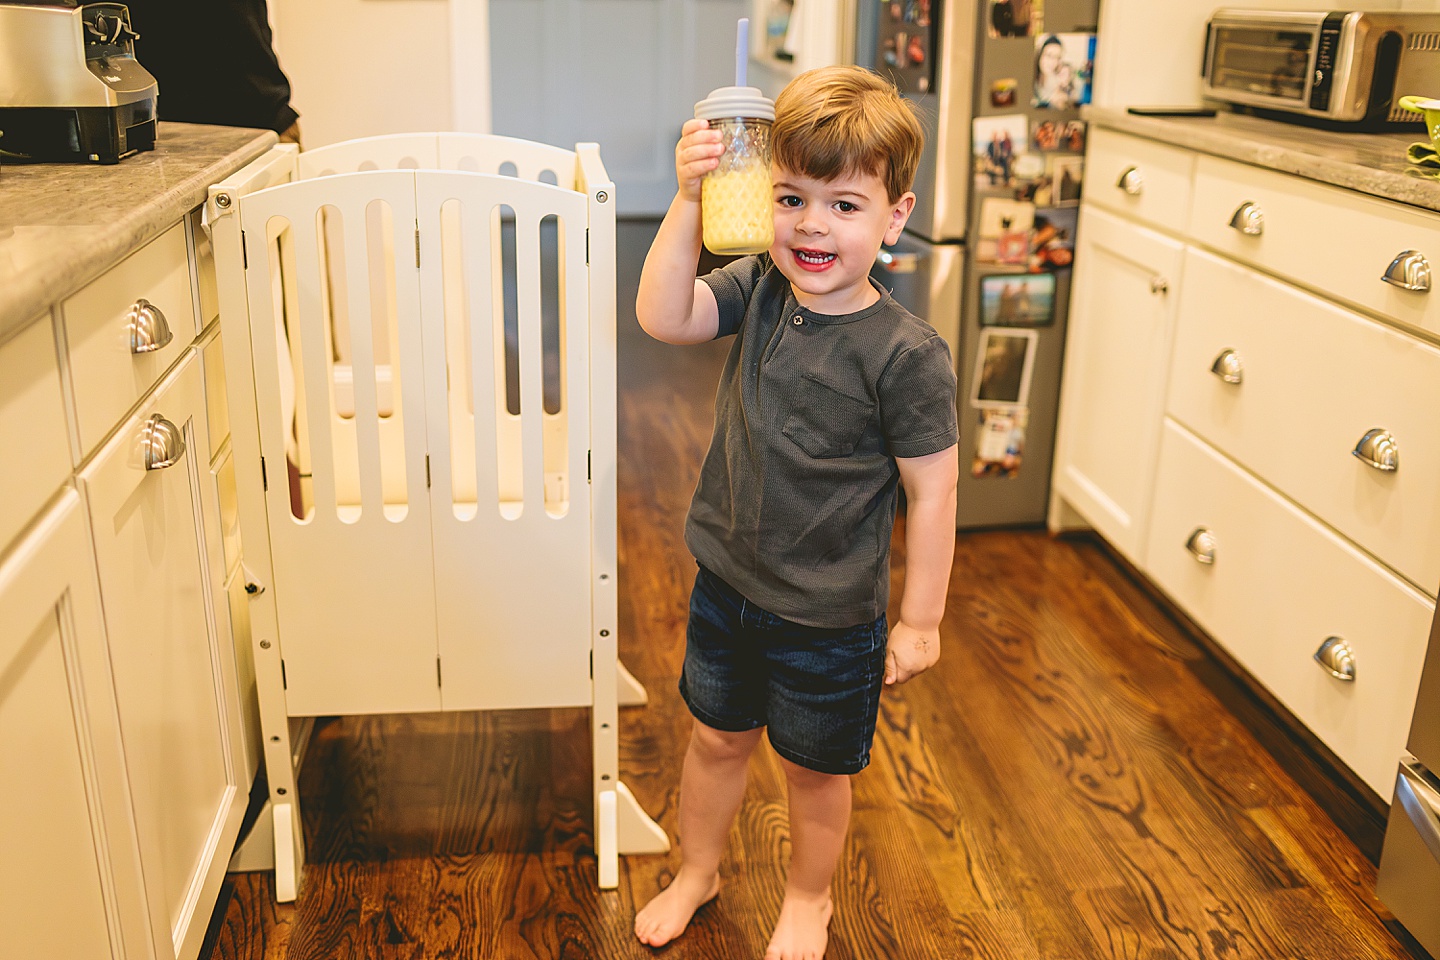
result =
[[[1418,127],[1398,134],[1359,134],[1248,114],[1135,117],[1104,107],[1087,107],[1084,117],[1100,127],[1136,137],[1440,210],[1440,180],[1426,177],[1405,163],[1405,147],[1426,140],[1424,130]]]

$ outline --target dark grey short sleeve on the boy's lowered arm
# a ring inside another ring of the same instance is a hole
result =
[[[950,348],[930,335],[880,377],[880,429],[891,456],[926,456],[959,442]]]

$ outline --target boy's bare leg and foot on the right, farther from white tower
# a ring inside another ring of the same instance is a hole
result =
[[[850,777],[780,757],[791,790],[791,872],[765,960],[819,960],[829,941],[829,881],[850,826]]]

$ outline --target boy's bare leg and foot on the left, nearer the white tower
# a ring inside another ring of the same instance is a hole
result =
[[[744,797],[750,753],[763,733],[729,733],[696,721],[680,774],[680,872],[635,915],[641,943],[670,943],[720,892],[720,855]]]

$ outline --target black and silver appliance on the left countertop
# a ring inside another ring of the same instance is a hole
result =
[[[0,3],[0,160],[118,163],[156,145],[158,85],[120,3]]]

